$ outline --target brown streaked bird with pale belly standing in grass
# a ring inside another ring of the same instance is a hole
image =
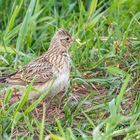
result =
[[[19,86],[18,94],[22,96],[23,90],[31,82],[35,89],[44,92],[52,79],[55,79],[50,93],[61,92],[69,82],[71,58],[68,49],[74,41],[74,37],[66,29],[60,28],[52,37],[46,53],[16,72],[1,76],[0,83],[6,83],[12,87]],[[33,100],[39,96],[39,93],[32,91],[28,99]]]

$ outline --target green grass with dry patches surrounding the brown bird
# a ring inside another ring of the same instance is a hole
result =
[[[140,139],[139,9],[139,0],[0,0],[1,75],[46,52],[58,28],[82,42],[69,50],[72,71],[61,113],[50,122],[43,105],[40,119],[34,115],[49,89],[30,104],[31,83],[9,105],[13,90],[5,87],[0,139]]]

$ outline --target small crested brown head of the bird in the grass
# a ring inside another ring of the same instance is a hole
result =
[[[59,29],[51,40],[51,46],[59,46],[68,49],[70,44],[74,41],[74,38],[65,30]]]

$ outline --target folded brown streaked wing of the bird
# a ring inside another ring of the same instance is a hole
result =
[[[53,78],[53,65],[48,61],[33,61],[15,75],[6,79],[7,83],[26,85],[33,82],[44,83]]]

